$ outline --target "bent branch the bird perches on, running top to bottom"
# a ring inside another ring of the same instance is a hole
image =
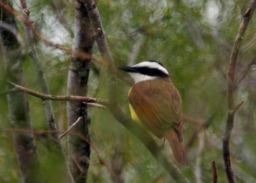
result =
[[[93,0],[83,0],[91,23],[93,25],[94,36],[99,48],[99,51],[102,55],[102,59],[108,63],[107,74],[108,74],[108,108],[113,116],[116,118],[119,123],[125,126],[129,131],[131,131],[136,137],[138,137],[142,143],[148,148],[151,154],[158,160],[158,162],[166,169],[166,171],[172,176],[176,182],[189,183],[189,180],[184,177],[180,170],[166,157],[165,154],[161,151],[160,147],[157,146],[157,143],[154,139],[145,132],[140,126],[134,123],[131,117],[123,111],[119,106],[118,97],[117,97],[117,83],[116,83],[116,73],[114,70],[114,63],[111,56],[111,53],[108,48],[107,40],[105,37],[105,32],[102,27],[99,11],[96,7],[96,4]]]

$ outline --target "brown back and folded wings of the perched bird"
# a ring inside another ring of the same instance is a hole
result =
[[[154,135],[162,138],[165,129],[174,127],[182,141],[181,97],[170,80],[159,82],[156,79],[134,84],[129,94],[129,103]]]

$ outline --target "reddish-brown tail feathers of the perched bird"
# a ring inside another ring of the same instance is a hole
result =
[[[181,165],[189,167],[189,161],[186,157],[183,146],[182,146],[175,130],[170,129],[170,130],[166,131],[165,137],[167,138],[167,140],[170,143],[175,160],[178,163],[180,163]]]

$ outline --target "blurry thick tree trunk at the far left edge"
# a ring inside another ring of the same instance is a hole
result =
[[[9,4],[9,0],[2,3]],[[23,54],[18,40],[18,30],[15,18],[3,11],[3,23],[10,29],[0,28],[6,68],[6,79],[20,86],[25,85],[23,73]],[[13,131],[15,150],[23,183],[38,183],[39,161],[30,122],[27,94],[12,93],[7,95],[9,115]]]

